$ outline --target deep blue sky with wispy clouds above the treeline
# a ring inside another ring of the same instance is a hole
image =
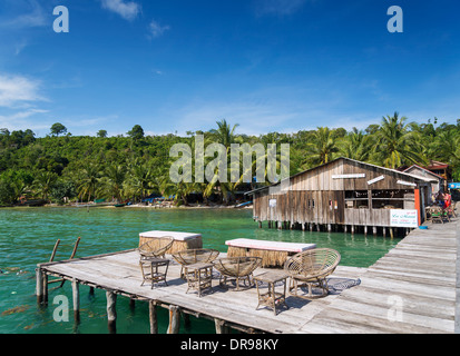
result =
[[[390,33],[390,6],[403,33]],[[69,10],[56,33],[52,10]],[[0,128],[72,135],[460,118],[453,0],[1,0]]]

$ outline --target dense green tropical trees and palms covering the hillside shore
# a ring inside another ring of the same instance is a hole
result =
[[[197,135],[204,137],[204,146],[222,144],[226,154],[233,144],[262,145],[290,144],[290,174],[326,164],[337,157],[348,157],[370,164],[398,168],[418,164],[427,166],[430,160],[447,162],[452,167],[453,178],[460,179],[460,120],[457,125],[440,123],[438,118],[424,123],[409,121],[398,112],[384,116],[380,122],[364,130],[353,128],[317,127],[294,134],[268,132],[248,136],[237,132],[238,125],[226,120],[216,122],[208,131],[187,131],[177,135],[146,136],[135,125],[126,136],[109,137],[101,129],[95,136],[72,136],[60,122],[50,128],[46,137],[36,137],[30,129],[25,131],[0,129],[0,205],[14,205],[25,199],[42,199],[51,202],[140,201],[148,196],[169,198],[175,204],[187,205],[199,199],[204,204],[215,201],[229,204],[243,191],[261,185],[255,179],[257,159],[252,157],[251,168],[233,166],[227,155],[227,177],[218,177],[218,167],[209,165],[214,177],[173,182],[169,168],[176,158],[169,156],[175,144],[186,144],[194,149]],[[276,169],[280,169],[281,152],[276,152]],[[215,157],[205,157],[205,167]],[[192,157],[193,165],[196,157]],[[254,177],[245,181],[243,175]],[[193,175],[196,175],[193,171]],[[266,175],[266,172],[265,172]],[[267,179],[265,179],[267,181]],[[266,182],[265,182],[266,184]]]

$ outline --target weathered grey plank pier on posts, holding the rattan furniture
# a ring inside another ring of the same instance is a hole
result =
[[[228,290],[213,279],[212,293],[198,297],[170,263],[167,283],[140,286],[136,249],[46,263],[37,268],[37,298],[48,298],[48,276],[72,283],[75,318],[79,318],[79,285],[106,290],[109,330],[116,326],[116,299],[149,303],[150,332],[158,333],[156,308],[169,309],[168,333],[180,318],[194,315],[215,322],[216,333],[454,333],[457,306],[457,224],[429,224],[415,229],[370,268],[339,266],[330,276],[331,294],[304,300],[288,296],[288,309],[276,316],[258,308],[256,288]],[[255,275],[263,273],[257,269]],[[119,316],[123,317],[123,316]],[[164,333],[166,330],[159,330]]]

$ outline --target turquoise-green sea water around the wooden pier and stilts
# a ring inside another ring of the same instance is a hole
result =
[[[350,235],[343,233],[310,233],[301,230],[263,229],[252,219],[252,210],[236,209],[143,209],[143,208],[18,208],[0,209],[0,333],[1,334],[106,334],[106,295],[80,286],[78,326],[71,313],[71,287],[50,290],[49,306],[37,306],[35,268],[48,261],[55,243],[61,239],[55,260],[67,259],[75,240],[81,237],[76,257],[130,249],[138,246],[139,233],[174,230],[203,235],[204,247],[226,251],[225,240],[256,238],[316,244],[331,247],[342,255],[341,265],[369,267],[399,239]],[[52,288],[57,285],[50,285]],[[57,323],[53,298],[69,299],[69,322]],[[118,297],[117,333],[149,333],[147,303]],[[158,309],[159,333],[168,324],[167,312]],[[180,333],[214,333],[214,324],[190,317],[192,327],[182,323]]]

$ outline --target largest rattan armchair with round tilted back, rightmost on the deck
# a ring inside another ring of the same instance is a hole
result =
[[[340,254],[331,248],[315,248],[296,254],[286,260],[284,270],[291,277],[290,293],[295,297],[312,299],[329,294],[327,279],[340,263]],[[298,295],[297,289],[307,286],[307,295]],[[313,294],[312,288],[321,289]]]

